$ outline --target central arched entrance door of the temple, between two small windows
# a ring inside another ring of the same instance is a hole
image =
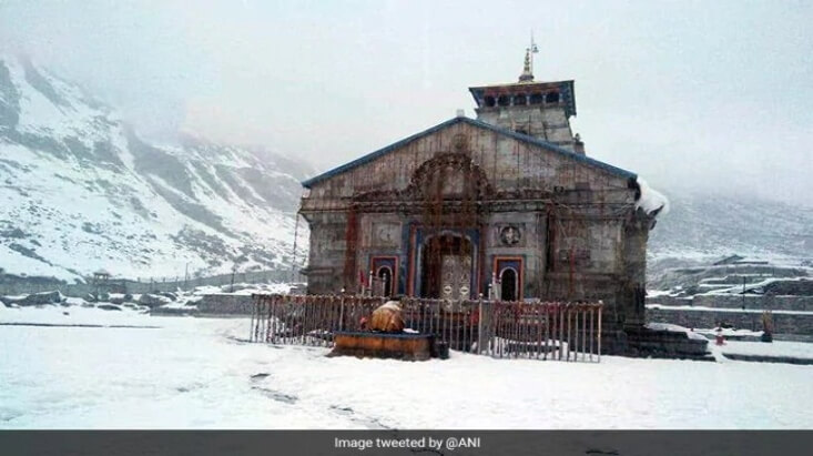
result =
[[[458,235],[429,239],[424,246],[423,297],[467,300],[471,294],[472,245]]]

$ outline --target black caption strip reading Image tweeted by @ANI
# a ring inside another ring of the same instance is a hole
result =
[[[0,430],[0,455],[813,454],[811,430]]]

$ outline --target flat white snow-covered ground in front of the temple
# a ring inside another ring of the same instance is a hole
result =
[[[0,326],[0,428],[813,427],[813,366],[327,358],[246,318],[0,306],[27,321],[159,327]]]

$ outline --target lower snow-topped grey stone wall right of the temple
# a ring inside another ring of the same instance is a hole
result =
[[[739,330],[762,331],[761,310],[748,311],[695,311],[647,308],[648,323],[672,323],[689,328],[712,328],[719,323]],[[799,334],[813,336],[813,314],[773,314],[775,334]]]

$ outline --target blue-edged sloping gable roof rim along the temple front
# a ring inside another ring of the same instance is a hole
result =
[[[512,138],[512,139],[515,139],[517,141],[520,141],[520,142],[527,143],[527,144],[531,144],[531,145],[537,145],[537,146],[540,146],[540,148],[546,149],[548,151],[551,151],[551,152],[555,152],[555,153],[565,155],[567,158],[570,158],[570,159],[577,161],[577,162],[585,163],[585,164],[588,164],[588,165],[591,165],[591,166],[596,166],[596,168],[600,168],[600,169],[602,169],[602,170],[604,170],[604,171],[607,171],[609,173],[616,174],[616,175],[621,176],[621,178],[624,178],[624,179],[636,179],[637,178],[637,174],[633,173],[633,172],[630,172],[630,171],[627,171],[627,170],[622,170],[620,168],[613,166],[613,165],[608,164],[608,163],[604,163],[602,161],[599,161],[599,160],[596,160],[596,159],[591,159],[591,158],[589,158],[587,155],[581,155],[581,154],[571,152],[571,151],[569,151],[567,149],[563,149],[563,148],[560,148],[560,146],[558,146],[556,144],[551,144],[551,143],[545,141],[545,140],[540,140],[540,139],[537,139],[537,138],[533,138],[533,136],[529,136],[527,134],[516,133],[516,132],[512,132],[510,130],[506,130],[506,129],[502,129],[502,128],[492,125],[490,123],[480,122],[480,121],[475,120],[475,119],[469,119],[469,118],[466,118],[466,116],[457,116],[457,118],[449,119],[446,122],[438,123],[435,126],[431,126],[431,128],[429,128],[427,130],[421,131],[420,133],[416,133],[416,134],[413,134],[411,136],[405,138],[405,139],[403,139],[403,140],[400,140],[398,142],[394,142],[394,143],[387,145],[386,148],[379,149],[379,150],[377,150],[375,152],[370,152],[370,153],[368,153],[368,154],[366,154],[364,156],[360,156],[360,158],[358,158],[358,159],[356,159],[356,160],[354,160],[352,162],[348,162],[348,163],[345,163],[345,164],[343,164],[341,166],[334,168],[333,170],[327,171],[327,172],[324,172],[324,173],[322,173],[322,174],[319,174],[319,175],[317,175],[315,178],[311,178],[311,179],[308,179],[306,181],[303,181],[302,182],[302,186],[304,186],[306,189],[311,189],[313,185],[315,185],[315,184],[317,184],[317,183],[319,183],[322,181],[325,181],[325,180],[331,179],[331,178],[333,178],[335,175],[342,174],[345,171],[349,171],[349,170],[352,170],[354,168],[357,168],[357,166],[360,166],[363,164],[369,163],[373,160],[376,160],[379,156],[383,156],[383,155],[385,155],[385,154],[387,154],[389,152],[396,151],[396,150],[398,150],[398,149],[400,149],[400,148],[409,144],[413,141],[419,140],[419,139],[421,139],[424,136],[427,136],[427,135],[429,135],[431,133],[435,133],[435,132],[437,132],[439,130],[443,130],[443,129],[445,129],[447,126],[455,125],[457,123],[468,123],[469,125],[474,125],[474,126],[477,126],[477,128],[490,130],[490,131],[492,131],[495,133],[498,133],[498,134],[501,134],[504,136],[509,136],[509,138]]]

